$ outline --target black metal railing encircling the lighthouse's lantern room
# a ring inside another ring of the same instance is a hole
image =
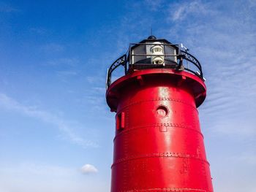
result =
[[[153,54],[133,54],[132,53],[132,47],[135,45],[161,45],[161,46],[172,46],[176,49],[177,54],[163,54],[163,55],[153,55]],[[163,64],[151,64],[151,62],[148,63],[136,63],[132,64],[132,61],[134,61],[133,58],[138,56],[162,56],[164,58],[166,57],[173,57],[176,58],[175,60],[165,59],[166,62],[165,65]],[[187,61],[187,63],[192,64],[192,68],[189,69],[189,65],[184,66],[184,60]],[[152,68],[168,68],[168,69],[176,69],[177,71],[186,71],[192,74],[195,74],[197,77],[200,77],[203,81],[205,80],[203,77],[203,70],[202,66],[200,65],[200,62],[190,53],[187,53],[187,51],[181,50],[178,45],[174,44],[154,44],[154,43],[132,43],[129,46],[129,53],[122,55],[120,58],[116,59],[116,61],[113,62],[113,64],[110,65],[107,72],[107,79],[106,79],[106,88],[111,85],[111,77],[113,71],[115,71],[116,68],[119,66],[124,67],[124,74],[128,74],[129,72],[132,72],[134,69],[152,69]]]

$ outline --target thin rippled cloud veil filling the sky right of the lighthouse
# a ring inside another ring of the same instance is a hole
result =
[[[255,8],[252,1],[183,1],[170,4],[166,19],[203,66],[208,91],[199,115],[215,191],[255,191]]]

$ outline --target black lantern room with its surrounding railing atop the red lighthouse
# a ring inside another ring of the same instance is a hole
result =
[[[187,65],[184,64],[184,60]],[[189,72],[205,80],[200,62],[188,53],[182,44],[178,45],[166,39],[157,39],[154,35],[139,43],[130,43],[127,53],[113,62],[108,69],[107,88],[112,83],[112,73],[119,66],[124,67],[124,74],[131,74],[143,69],[165,68],[178,72]]]

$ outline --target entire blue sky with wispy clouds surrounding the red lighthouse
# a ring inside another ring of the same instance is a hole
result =
[[[108,66],[153,34],[189,47],[215,191],[256,191],[256,1],[0,1],[0,191],[110,191]]]

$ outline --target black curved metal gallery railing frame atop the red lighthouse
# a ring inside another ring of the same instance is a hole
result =
[[[132,48],[135,47],[135,46],[138,46],[138,45],[156,45],[156,44],[154,44],[154,43],[131,43],[129,45],[129,54],[127,55],[127,53],[126,53],[126,54],[122,55],[120,58],[116,59],[116,61],[114,61],[113,64],[111,64],[110,68],[108,69],[107,80],[106,80],[106,88],[108,88],[111,85],[111,83],[112,83],[111,82],[112,72],[118,66],[124,66],[124,74],[128,74],[129,71],[130,71],[129,69],[132,69],[132,66],[134,65],[134,64],[129,64],[129,62],[132,61],[132,57],[141,56],[141,55],[148,55],[148,54],[132,54]],[[157,45],[162,45],[162,46],[171,45],[172,47],[174,47],[176,49],[176,51],[178,53],[176,55],[160,55],[160,56],[176,56],[178,62],[176,63],[175,69],[177,71],[184,70],[184,71],[190,72],[192,74],[195,74],[197,77],[200,77],[203,81],[205,80],[203,78],[202,66],[200,65],[200,62],[197,60],[197,58],[195,58],[193,55],[191,55],[190,53],[187,53],[187,51],[181,50],[178,47],[178,45],[167,44],[167,43],[161,43],[161,44],[157,44]],[[192,69],[189,69],[188,67],[185,67],[183,65],[184,60],[189,61],[189,63],[191,63],[191,64],[194,64],[194,66],[197,67],[199,72],[197,72],[197,71],[195,72]],[[145,65],[145,64],[136,64],[136,65]],[[148,64],[148,66],[149,65],[150,65],[150,67],[148,67],[148,68],[159,68],[159,67],[170,68],[169,66]],[[182,69],[182,66],[184,66],[183,69]]]

